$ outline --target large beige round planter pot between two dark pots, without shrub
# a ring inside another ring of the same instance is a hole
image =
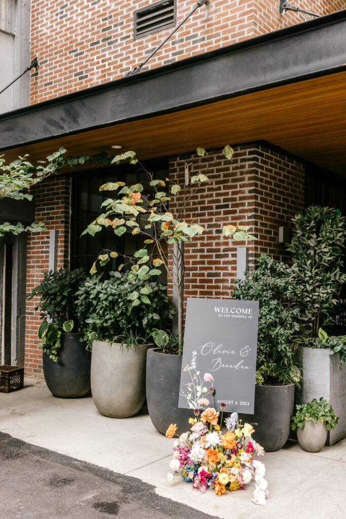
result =
[[[91,391],[98,411],[112,418],[128,418],[145,401],[145,366],[148,348],[126,348],[119,343],[94,340],[91,354]]]

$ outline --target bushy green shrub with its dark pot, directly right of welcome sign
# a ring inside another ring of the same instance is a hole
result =
[[[247,279],[237,281],[232,297],[259,301],[255,411],[240,416],[256,424],[256,440],[265,450],[278,450],[289,436],[294,388],[300,380],[293,342],[299,309],[290,268],[262,254]]]

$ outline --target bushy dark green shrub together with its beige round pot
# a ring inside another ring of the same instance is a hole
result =
[[[145,297],[144,297],[145,296]],[[133,301],[139,301],[133,305]],[[146,353],[151,331],[172,318],[173,309],[160,283],[128,279],[87,278],[77,292],[78,315],[87,313],[84,337],[92,345],[91,391],[105,416],[135,415],[145,401]]]

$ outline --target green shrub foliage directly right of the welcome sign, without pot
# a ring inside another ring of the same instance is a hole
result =
[[[290,276],[287,265],[262,254],[256,270],[248,270],[232,293],[233,299],[259,301],[257,384],[298,384],[301,378],[294,359],[299,309]]]

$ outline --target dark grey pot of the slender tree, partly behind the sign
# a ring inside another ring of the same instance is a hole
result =
[[[147,352],[147,406],[154,427],[165,434],[170,424],[176,424],[178,434],[189,429],[191,409],[178,408],[182,357],[162,353],[158,348]]]

